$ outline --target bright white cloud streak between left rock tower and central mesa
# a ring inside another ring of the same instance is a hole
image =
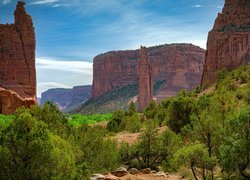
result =
[[[51,58],[37,58],[36,65],[39,69],[69,71],[72,73],[92,74],[93,64],[86,61],[61,61]]]

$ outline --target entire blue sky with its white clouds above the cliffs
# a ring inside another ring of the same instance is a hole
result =
[[[12,23],[16,0],[0,0]],[[224,0],[26,0],[36,31],[38,96],[49,88],[92,83],[92,60],[140,45],[192,43],[206,48]]]

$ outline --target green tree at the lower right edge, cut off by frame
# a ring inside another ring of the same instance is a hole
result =
[[[225,140],[220,146],[220,162],[223,170],[230,175],[239,172],[249,179],[250,168],[250,108],[242,107],[229,117]]]

